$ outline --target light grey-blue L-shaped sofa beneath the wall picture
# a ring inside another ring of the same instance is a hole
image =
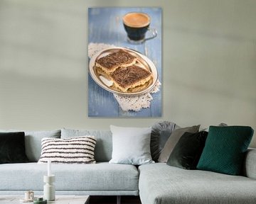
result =
[[[178,125],[173,125],[171,131],[178,128]],[[33,190],[35,195],[43,194],[43,175],[47,175],[47,164],[38,164],[43,138],[65,139],[94,135],[97,140],[94,150],[96,163],[52,164],[56,194],[117,196],[117,203],[121,203],[120,196],[139,196],[142,204],[256,203],[256,149],[245,151],[242,173],[233,176],[213,171],[182,169],[165,162],[154,162],[153,159],[142,165],[110,163],[113,159],[113,136],[110,130],[63,128],[20,131],[25,135],[28,162],[0,164],[0,195],[23,194],[28,190]],[[170,130],[160,132],[164,132],[166,136]],[[150,145],[155,142],[153,140],[151,134]],[[153,152],[156,148],[151,146],[150,150]],[[161,150],[163,147],[159,148]]]

